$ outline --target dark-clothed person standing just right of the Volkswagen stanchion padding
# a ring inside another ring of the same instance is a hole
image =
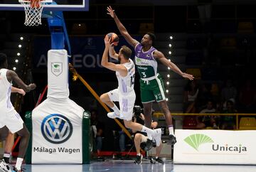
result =
[[[104,124],[97,119],[97,111],[96,110],[91,111],[90,124],[92,126],[92,136],[94,136],[94,138],[95,138],[95,144],[96,144],[96,149],[97,149],[97,158],[102,159],[100,152],[102,150]]]

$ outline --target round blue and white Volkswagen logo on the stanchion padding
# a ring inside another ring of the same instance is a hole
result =
[[[72,135],[73,126],[62,114],[50,114],[43,119],[41,132],[50,143],[62,144]]]

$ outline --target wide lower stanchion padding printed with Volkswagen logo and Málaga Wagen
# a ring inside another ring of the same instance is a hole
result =
[[[33,109],[32,163],[82,163],[83,112],[68,98]]]

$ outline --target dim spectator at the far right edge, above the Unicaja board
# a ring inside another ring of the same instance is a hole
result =
[[[239,105],[241,112],[255,112],[256,90],[252,85],[252,80],[247,79],[245,85],[242,86],[239,92]]]

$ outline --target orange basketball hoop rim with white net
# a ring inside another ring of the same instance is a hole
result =
[[[52,2],[52,0],[18,0],[20,4],[24,6],[25,10],[25,22],[26,26],[38,26],[41,25],[41,16],[43,7],[46,3]]]

